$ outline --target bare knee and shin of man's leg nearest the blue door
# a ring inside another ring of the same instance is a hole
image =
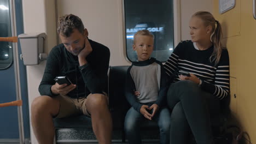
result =
[[[48,96],[40,96],[33,100],[31,105],[31,122],[38,142],[40,144],[54,142],[53,116],[60,109],[60,103]]]

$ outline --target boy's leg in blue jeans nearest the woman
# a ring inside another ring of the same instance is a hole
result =
[[[160,130],[160,143],[168,144],[170,143],[170,123],[171,114],[167,107],[160,109],[157,115],[154,116],[158,122],[158,127]],[[155,119],[154,119],[155,120]]]

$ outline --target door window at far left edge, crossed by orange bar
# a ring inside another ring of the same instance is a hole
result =
[[[0,37],[11,37],[9,0],[0,2]],[[0,69],[7,69],[13,62],[13,44],[0,41]]]

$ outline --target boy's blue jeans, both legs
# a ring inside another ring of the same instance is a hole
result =
[[[150,106],[150,105],[149,105]],[[125,117],[125,134],[127,140],[130,144],[140,144],[141,135],[140,135],[140,124],[143,121],[149,121],[141,113],[131,107]],[[170,111],[165,107],[159,109],[158,112],[153,117],[152,121],[158,123],[160,129],[160,143],[169,144],[170,139]]]

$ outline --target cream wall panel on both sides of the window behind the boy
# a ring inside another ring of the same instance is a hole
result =
[[[196,11],[212,12],[212,0],[174,0],[174,33],[178,40],[188,40],[189,20]],[[180,5],[180,6],[179,6]],[[179,8],[177,8],[179,7]],[[89,31],[89,38],[110,49],[110,65],[129,65],[124,58],[123,9],[121,0],[57,0],[57,15],[78,15]],[[176,21],[175,21],[176,20]],[[175,41],[176,42],[176,41]],[[177,43],[175,44],[177,45]]]

